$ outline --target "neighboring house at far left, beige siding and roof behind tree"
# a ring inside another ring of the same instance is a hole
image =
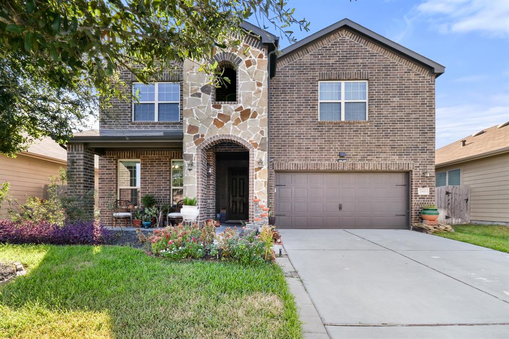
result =
[[[49,177],[59,174],[59,168],[67,168],[67,151],[50,137],[35,140],[25,152],[9,158],[0,155],[0,183],[9,182],[9,194],[20,204],[26,196],[43,198]],[[96,168],[95,178],[99,169]],[[2,206],[0,217],[7,216],[7,206]]]

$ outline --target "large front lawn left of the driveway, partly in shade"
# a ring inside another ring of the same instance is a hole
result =
[[[0,245],[0,337],[298,338],[280,268],[172,262],[119,246]]]

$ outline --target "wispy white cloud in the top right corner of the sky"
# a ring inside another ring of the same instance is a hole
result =
[[[481,32],[492,37],[509,36],[507,0],[426,0],[416,9],[441,33]]]

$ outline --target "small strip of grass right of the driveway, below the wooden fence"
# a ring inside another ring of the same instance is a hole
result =
[[[454,225],[454,233],[439,232],[444,238],[468,242],[509,253],[509,227],[502,225]]]

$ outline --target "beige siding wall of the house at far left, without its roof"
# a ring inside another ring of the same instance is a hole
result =
[[[66,168],[62,163],[42,160],[24,155],[8,158],[0,155],[0,184],[11,183],[9,193],[19,203],[26,201],[26,196],[43,197],[44,185],[49,184],[49,177],[59,173],[59,168]],[[96,190],[98,187],[98,172],[96,171]],[[6,206],[0,209],[0,217],[6,217]]]

